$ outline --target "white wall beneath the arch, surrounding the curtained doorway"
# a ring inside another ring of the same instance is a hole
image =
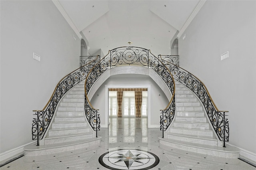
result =
[[[129,74],[122,75],[122,78],[108,78],[96,91],[92,97],[92,106],[100,111],[101,124],[105,125],[105,85],[126,85],[134,87],[135,85],[151,85],[150,86],[150,125],[151,127],[160,127],[160,109],[165,109],[169,101],[162,89],[149,76],[143,78],[132,78]],[[159,96],[160,94],[160,96]]]

